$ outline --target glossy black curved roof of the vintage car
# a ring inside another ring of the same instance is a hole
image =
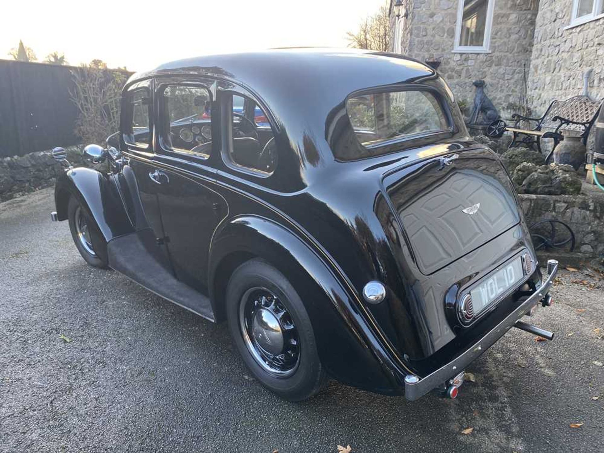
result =
[[[137,72],[128,83],[161,74],[223,77],[255,90],[261,86],[312,84],[340,87],[338,92],[350,93],[370,86],[433,77],[435,71],[417,60],[372,50],[278,48],[175,60],[150,71]]]

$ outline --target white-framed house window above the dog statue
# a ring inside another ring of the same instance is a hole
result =
[[[601,0],[600,0],[601,1]],[[454,52],[489,52],[495,0],[459,0]]]

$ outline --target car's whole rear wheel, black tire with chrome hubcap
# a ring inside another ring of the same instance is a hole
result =
[[[310,318],[281,272],[259,259],[240,265],[226,290],[226,315],[243,361],[265,387],[290,401],[321,390],[326,371]]]

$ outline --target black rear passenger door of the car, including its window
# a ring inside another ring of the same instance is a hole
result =
[[[217,157],[212,135],[219,124],[212,121],[210,82],[156,80],[153,162],[158,173],[152,178],[175,275],[204,294],[211,236],[228,212],[216,191],[212,165]]]

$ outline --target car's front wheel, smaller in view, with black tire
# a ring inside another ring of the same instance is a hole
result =
[[[79,222],[80,216],[82,222],[86,225],[86,240],[81,239],[81,231],[78,225],[82,225]],[[77,199],[72,196],[69,198],[69,204],[67,205],[67,218],[69,220],[69,230],[71,230],[71,237],[76,244],[76,248],[82,255],[82,258],[86,260],[91,266],[95,268],[104,269],[107,267],[107,243],[103,238],[103,234],[98,229],[97,223],[88,213],[88,210],[80,205]]]

